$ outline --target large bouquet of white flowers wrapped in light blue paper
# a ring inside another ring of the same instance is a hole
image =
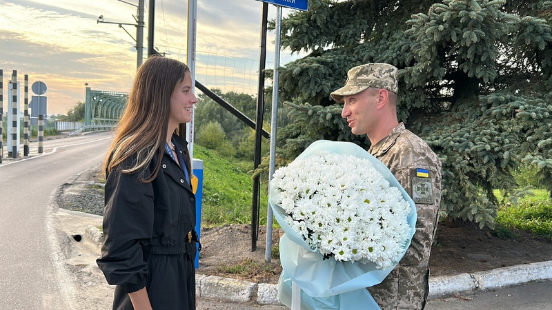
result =
[[[302,309],[379,308],[365,288],[404,256],[416,218],[385,165],[354,143],[317,141],[275,172],[269,199],[285,232],[284,304],[293,281],[302,289]]]

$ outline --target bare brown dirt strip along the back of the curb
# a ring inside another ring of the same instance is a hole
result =
[[[429,263],[431,276],[473,273],[552,260],[551,240],[535,239],[523,232],[517,232],[512,240],[505,240],[477,227],[440,223],[437,234]],[[272,239],[273,245],[277,245],[278,230],[273,231]],[[271,259],[270,264],[265,260],[266,227],[259,229],[256,251],[251,251],[251,244],[250,225],[202,229],[201,245],[204,249],[197,272],[277,283],[282,267],[278,259]],[[252,272],[244,271],[246,266],[253,266],[250,267]]]

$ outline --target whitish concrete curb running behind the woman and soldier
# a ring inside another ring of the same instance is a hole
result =
[[[101,247],[101,231],[89,226],[83,238],[97,249]],[[490,291],[502,287],[522,285],[535,280],[552,280],[552,260],[534,262],[480,271],[475,273],[460,273],[454,276],[437,276],[429,279],[428,300],[446,298],[456,293],[473,292],[477,290]],[[205,276],[196,274],[197,296],[230,302],[256,302],[257,304],[281,304],[278,300],[278,285],[255,283]]]

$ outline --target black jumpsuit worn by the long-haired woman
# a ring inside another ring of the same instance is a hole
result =
[[[186,141],[173,136],[179,150]],[[188,158],[184,161],[188,165]],[[157,156],[146,175],[155,168]],[[184,172],[165,153],[151,183],[114,169],[106,180],[103,246],[97,260],[110,285],[113,309],[134,309],[128,293],[146,287],[155,310],[195,309],[195,195]]]

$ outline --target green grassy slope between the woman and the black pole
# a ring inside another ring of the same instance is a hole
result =
[[[239,161],[197,144],[194,158],[201,159],[204,166],[201,225],[250,224],[253,179],[248,172],[253,169],[253,158]],[[268,198],[263,185],[260,192],[260,224],[266,225]]]

